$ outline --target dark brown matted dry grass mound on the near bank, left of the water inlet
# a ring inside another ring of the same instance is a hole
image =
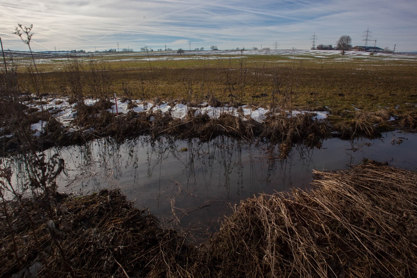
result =
[[[76,277],[187,275],[184,266],[190,263],[195,248],[184,242],[185,235],[161,228],[155,217],[146,210],[134,208],[119,190],[103,190],[78,198],[63,195],[57,201],[60,204],[56,207],[57,222],[65,234],[60,245]],[[36,211],[30,201],[25,206]],[[13,209],[9,207],[9,210]],[[22,208],[14,210],[21,213],[15,244],[22,256],[15,258],[13,244],[6,244],[11,239],[2,218],[2,253],[10,255],[1,258],[1,276],[12,277],[22,267],[31,265],[32,260],[44,258],[45,267],[39,277],[67,277],[61,256],[57,255],[58,248],[52,245],[43,249],[44,245],[48,246],[49,231],[38,224],[32,232]]]

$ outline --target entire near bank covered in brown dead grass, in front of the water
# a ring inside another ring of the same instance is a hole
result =
[[[188,240],[186,230],[162,227],[118,190],[84,197],[57,195],[54,225],[35,213],[33,201],[3,203],[9,218],[2,209],[6,255],[1,273],[4,277],[19,271],[28,277],[36,277],[38,271],[40,277],[417,275],[416,172],[368,161],[346,171],[314,175],[317,180],[309,192],[292,190],[241,202],[221,229],[198,246]]]

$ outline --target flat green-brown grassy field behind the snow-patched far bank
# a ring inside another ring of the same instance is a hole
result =
[[[74,78],[85,96],[94,86],[109,95],[164,100],[204,101],[214,94],[222,102],[332,111],[354,108],[394,114],[415,111],[416,56],[334,55],[106,55],[36,58],[44,94],[70,95]],[[26,90],[35,91],[29,58],[15,58]],[[93,69],[93,71],[91,71]],[[95,84],[91,84],[96,82]],[[80,89],[80,88],[78,88]],[[275,93],[275,94],[274,94]],[[261,95],[262,94],[262,95]],[[233,95],[233,96],[230,96]],[[258,98],[257,96],[262,97]],[[268,95],[268,96],[266,96]],[[253,97],[256,96],[256,97]],[[340,110],[340,111],[339,111]],[[333,114],[338,114],[333,112]]]

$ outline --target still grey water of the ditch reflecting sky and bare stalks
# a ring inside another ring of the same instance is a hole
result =
[[[86,194],[120,186],[129,200],[149,208],[161,220],[170,220],[174,211],[181,227],[203,227],[248,197],[306,188],[312,169],[342,169],[364,157],[414,169],[417,156],[410,150],[417,136],[389,133],[385,137],[327,139],[322,149],[296,145],[284,160],[279,159],[279,146],[225,136],[210,142],[151,140],[149,136],[125,142],[103,138],[46,152],[48,157],[58,152],[65,160],[66,176],[58,177],[60,190]],[[393,137],[407,140],[392,145]],[[16,155],[4,163],[12,166],[14,182],[23,184],[27,177],[23,157]]]

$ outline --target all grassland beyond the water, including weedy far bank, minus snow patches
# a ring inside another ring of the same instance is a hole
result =
[[[412,59],[339,57],[242,55],[195,60],[192,56],[143,61],[115,54],[60,60],[54,66],[34,58],[37,70],[9,60],[8,73],[0,74],[0,140],[4,149],[19,149],[22,139],[13,125],[18,124],[29,136],[30,124],[45,121],[46,132],[39,141],[47,145],[74,144],[107,135],[210,139],[227,134],[271,140],[282,144],[285,153],[295,142],[319,146],[320,139],[329,134],[349,139],[417,127],[417,81],[413,74],[417,65]],[[132,100],[141,99],[155,105],[166,101],[191,107],[246,104],[271,112],[319,110],[328,111],[329,116],[316,123],[302,115],[288,118],[285,113],[271,113],[261,124],[241,116],[211,120],[192,113],[179,120],[153,110],[129,111],[116,117],[107,111],[114,94],[131,109],[136,105]],[[31,108],[42,106],[46,96],[64,96],[73,105],[75,132],[61,125],[56,116],[59,111]],[[99,101],[87,106],[86,98]]]

